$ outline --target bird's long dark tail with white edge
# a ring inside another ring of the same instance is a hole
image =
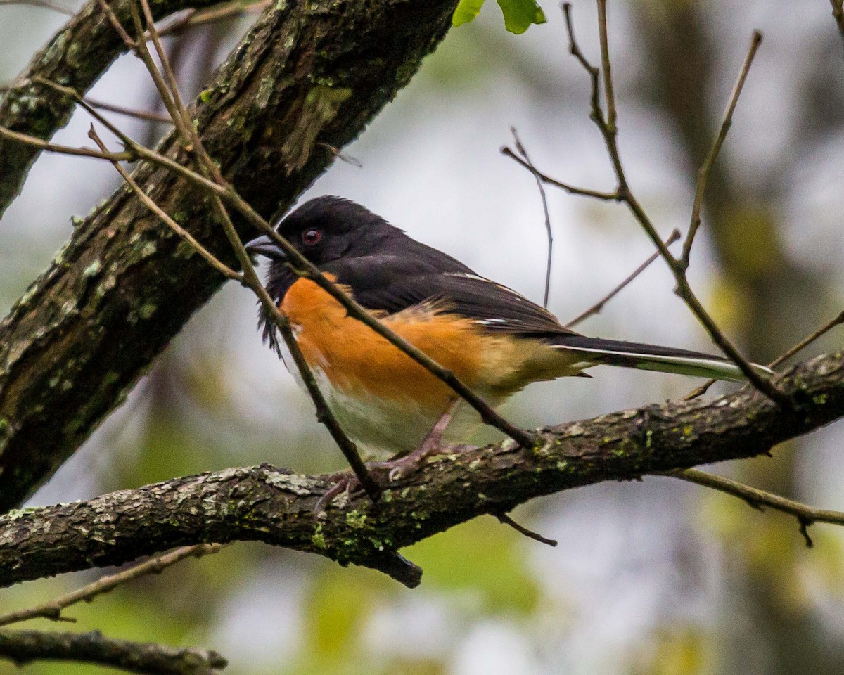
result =
[[[658,347],[654,344],[627,343],[622,340],[587,338],[583,335],[561,335],[554,346],[582,354],[583,360],[593,364],[619,365],[639,370],[696,375],[715,380],[744,381],[744,373],[729,359],[688,349]],[[753,365],[761,373],[771,374],[764,365]]]

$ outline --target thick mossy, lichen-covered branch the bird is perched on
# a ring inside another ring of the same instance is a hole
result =
[[[421,570],[395,552],[482,514],[603,480],[629,480],[756,456],[844,416],[844,354],[777,381],[798,408],[745,387],[713,402],[668,403],[546,429],[536,446],[436,456],[385,490],[354,494],[317,520],[331,485],[262,466],[176,478],[95,500],[0,518],[0,585],[121,564],[194,543],[260,540],[386,572],[408,586]]]

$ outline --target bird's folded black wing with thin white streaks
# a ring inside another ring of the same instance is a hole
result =
[[[439,251],[437,251],[439,253]],[[440,254],[442,255],[442,254]],[[559,336],[576,333],[506,286],[480,277],[453,258],[377,254],[328,263],[325,272],[347,284],[360,305],[388,315],[424,302],[477,321],[493,331]],[[443,269],[445,267],[445,269]]]

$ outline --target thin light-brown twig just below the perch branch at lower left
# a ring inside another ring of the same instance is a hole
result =
[[[138,579],[138,577],[160,574],[166,568],[183,559],[190,557],[201,558],[203,555],[215,554],[222,548],[224,548],[224,544],[219,543],[200,543],[195,546],[176,548],[176,550],[170,551],[168,554],[157,555],[127,570],[122,570],[113,575],[103,576],[88,586],[83,586],[67,595],[54,598],[50,602],[4,614],[0,616],[0,626],[39,617],[49,618],[52,621],[75,621],[76,619],[63,617],[62,610],[83,600],[85,602],[91,602],[95,597],[113,591],[117,586],[127,584],[129,581]]]

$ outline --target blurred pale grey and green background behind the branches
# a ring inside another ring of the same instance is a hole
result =
[[[61,0],[59,0],[61,2]],[[842,307],[844,47],[826,0],[615,0],[610,45],[619,143],[631,186],[663,235],[689,221],[696,168],[759,28],[765,41],[711,178],[693,286],[722,327],[766,362]],[[65,0],[65,6],[78,5]],[[535,164],[562,181],[614,181],[588,119],[586,74],[549,22],[504,30],[495,3],[452,30],[419,75],[303,197],[338,194],[380,213],[479,273],[541,301],[544,219],[535,182],[499,153],[517,127]],[[575,24],[598,61],[594,3]],[[0,8],[0,84],[65,19]],[[170,39],[183,90],[196,94],[252,18]],[[90,93],[160,110],[143,68],[116,63]],[[161,124],[113,116],[154,143]],[[57,142],[87,144],[84,115]],[[84,215],[117,185],[110,165],[44,155],[0,224],[5,313]],[[652,251],[624,208],[549,190],[555,235],[550,309],[569,320]],[[712,350],[657,262],[580,328],[608,338]],[[126,403],[36,494],[32,505],[92,497],[176,475],[272,462],[344,467],[311,402],[261,343],[257,307],[228,285],[193,317]],[[831,334],[806,354],[841,346]],[[532,386],[506,415],[531,426],[680,397],[699,384],[631,370]],[[723,392],[713,389],[714,393]],[[773,459],[716,467],[763,489],[844,510],[841,425],[780,446]],[[494,438],[487,435],[485,438]],[[558,548],[490,517],[403,553],[425,569],[408,591],[371,570],[235,544],[69,612],[73,629],[199,645],[231,675],[394,673],[840,673],[844,531],[669,478],[601,484],[522,506],[518,521]],[[3,591],[3,611],[46,601],[97,574]],[[40,625],[39,625],[40,624]],[[52,629],[46,621],[32,627]],[[62,625],[62,628],[67,628]],[[0,672],[18,672],[0,662]],[[35,664],[24,672],[103,672]]]

